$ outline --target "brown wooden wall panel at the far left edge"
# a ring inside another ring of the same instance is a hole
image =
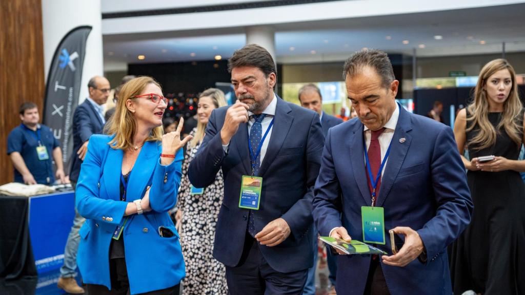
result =
[[[44,45],[40,0],[0,1],[0,184],[13,181],[7,135],[24,101],[44,106]]]

